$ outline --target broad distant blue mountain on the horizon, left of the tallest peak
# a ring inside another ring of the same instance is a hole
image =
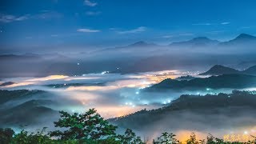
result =
[[[186,42],[173,42],[170,46],[186,46],[186,47],[197,47],[197,46],[214,46],[219,42],[206,37],[193,38]]]

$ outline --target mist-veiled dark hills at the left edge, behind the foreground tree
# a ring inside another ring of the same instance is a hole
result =
[[[48,97],[42,90],[0,90],[0,126],[35,126],[57,119],[58,111],[50,106],[58,103]]]

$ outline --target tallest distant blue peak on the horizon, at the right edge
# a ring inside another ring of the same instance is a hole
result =
[[[250,46],[256,44],[256,37],[250,34],[240,34],[237,38],[234,38],[228,42],[221,42],[220,46]]]

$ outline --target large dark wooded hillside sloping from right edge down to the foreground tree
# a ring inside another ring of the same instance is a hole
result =
[[[169,106],[157,110],[141,110],[109,121],[134,130],[204,130],[252,123],[256,113],[256,92],[234,90],[232,94],[205,96],[182,95]],[[191,122],[193,125],[191,125]],[[253,121],[255,122],[255,121]]]

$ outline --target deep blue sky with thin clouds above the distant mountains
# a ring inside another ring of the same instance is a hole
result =
[[[3,0],[1,52],[256,34],[255,0]]]

